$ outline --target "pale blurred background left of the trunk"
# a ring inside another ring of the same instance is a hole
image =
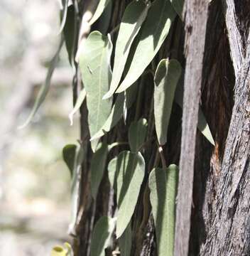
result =
[[[50,255],[70,241],[70,173],[62,147],[70,126],[72,70],[62,48],[50,91],[31,124],[48,63],[57,50],[59,0],[0,0],[0,255]]]

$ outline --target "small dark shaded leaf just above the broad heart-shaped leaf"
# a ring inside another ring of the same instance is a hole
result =
[[[145,142],[148,123],[145,118],[131,122],[129,127],[129,145],[132,152],[137,152]]]

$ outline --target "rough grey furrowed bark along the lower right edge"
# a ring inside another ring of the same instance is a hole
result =
[[[235,85],[216,198],[216,215],[201,255],[249,255],[250,246],[250,40]],[[233,50],[234,45],[230,44]]]

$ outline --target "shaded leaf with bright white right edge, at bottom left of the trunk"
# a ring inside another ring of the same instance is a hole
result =
[[[109,240],[115,228],[116,218],[102,217],[96,225],[91,240],[90,256],[105,256],[105,249],[109,246]]]

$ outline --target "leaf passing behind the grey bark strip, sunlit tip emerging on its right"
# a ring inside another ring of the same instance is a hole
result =
[[[178,86],[176,92],[175,92],[175,102],[183,108],[183,87]],[[202,112],[201,107],[199,108],[198,112],[198,124],[197,128],[200,130],[200,132],[204,135],[204,137],[212,144],[214,145],[214,139],[212,137],[212,133],[210,131],[210,127],[207,124],[207,120],[205,118],[205,115]]]

